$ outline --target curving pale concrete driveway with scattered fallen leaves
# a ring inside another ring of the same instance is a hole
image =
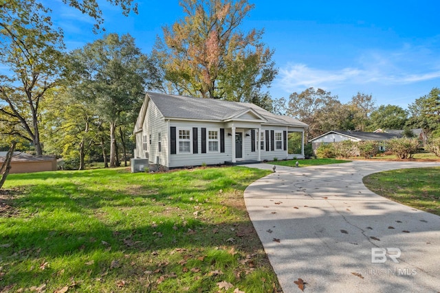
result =
[[[276,166],[252,183],[245,204],[283,292],[301,292],[298,279],[304,292],[440,292],[440,217],[362,183],[375,172],[432,166],[440,163]]]

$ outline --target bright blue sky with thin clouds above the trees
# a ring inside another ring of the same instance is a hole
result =
[[[56,25],[68,49],[102,34],[94,21],[51,0]],[[183,16],[177,0],[138,0],[139,14],[125,17],[102,1],[107,32],[130,33],[149,54],[163,25]],[[356,93],[377,105],[406,108],[440,86],[440,1],[267,1],[255,8],[242,30],[264,29],[263,42],[275,50],[279,69],[269,89],[288,98],[310,86],[331,91],[342,103]]]

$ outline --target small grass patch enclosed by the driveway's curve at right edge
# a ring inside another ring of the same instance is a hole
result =
[[[440,167],[379,172],[363,181],[380,196],[440,215]]]

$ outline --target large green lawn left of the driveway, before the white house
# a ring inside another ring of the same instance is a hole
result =
[[[276,292],[243,201],[268,173],[10,174],[0,191],[0,291]]]

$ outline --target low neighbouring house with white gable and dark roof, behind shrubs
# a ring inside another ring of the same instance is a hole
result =
[[[384,141],[401,137],[401,134],[385,133],[385,132],[360,132],[350,130],[332,130],[325,134],[309,140],[314,151],[319,148],[321,143],[336,143],[338,141],[379,141],[379,150],[383,151]]]

